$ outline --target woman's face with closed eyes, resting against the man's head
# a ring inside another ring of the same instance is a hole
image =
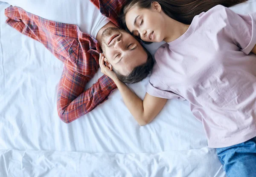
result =
[[[134,5],[125,15],[129,31],[147,42],[161,42],[165,38],[166,23],[159,3],[150,9],[140,9]]]

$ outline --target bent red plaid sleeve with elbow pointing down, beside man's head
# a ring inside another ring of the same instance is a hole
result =
[[[87,78],[64,67],[57,100],[58,115],[63,122],[70,123],[90,112],[107,100],[108,95],[116,88],[113,80],[103,75],[91,88],[84,91]]]

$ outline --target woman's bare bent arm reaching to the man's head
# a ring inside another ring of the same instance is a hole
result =
[[[154,97],[146,93],[144,100],[141,100],[125,83],[122,83],[122,81],[116,77],[116,74],[111,69],[105,66],[104,56],[102,56],[102,54],[100,54],[99,57],[99,65],[102,73],[106,74],[116,83],[125,105],[140,126],[145,126],[150,123],[163,109],[167,99]]]

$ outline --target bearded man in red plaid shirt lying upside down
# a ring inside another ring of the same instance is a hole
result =
[[[131,34],[118,28],[117,14],[124,0],[90,0],[84,3],[88,22],[84,28],[86,33],[81,32],[76,25],[46,20],[18,7],[11,6],[5,11],[7,24],[43,43],[64,62],[57,108],[65,123],[91,111],[116,88],[113,81],[104,75],[84,91],[85,85],[99,67],[100,47],[108,58],[106,65],[127,83],[140,81],[141,75],[146,77],[153,66],[152,57],[143,46]],[[89,17],[90,14],[93,18]]]

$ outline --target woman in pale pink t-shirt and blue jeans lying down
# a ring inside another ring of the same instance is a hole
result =
[[[166,99],[188,100],[227,176],[256,176],[256,13],[239,15],[218,5],[181,23],[163,2],[134,0],[124,8],[132,34],[167,42],[155,54],[144,100],[104,66],[104,57],[103,73],[141,124],[153,120]]]

